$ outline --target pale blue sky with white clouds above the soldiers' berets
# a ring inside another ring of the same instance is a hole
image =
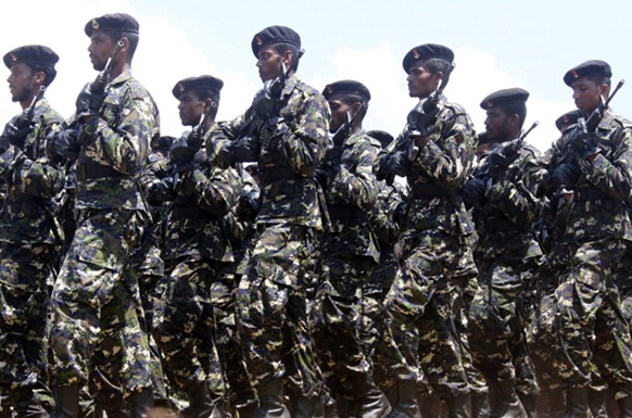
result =
[[[602,59],[611,64],[615,84],[632,78],[632,5],[612,0],[22,0],[0,5],[0,52],[25,43],[58,51],[59,75],[47,96],[69,115],[76,94],[96,76],[83,27],[93,16],[117,11],[140,22],[134,72],[156,99],[165,135],[184,130],[170,96],[180,78],[212,74],[224,79],[219,118],[232,118],[248,106],[261,86],[250,41],[274,24],[301,35],[301,78],[318,89],[342,78],[365,83],[374,96],[365,127],[392,134],[415,105],[402,58],[420,43],[444,43],[455,51],[456,69],[445,92],[468,110],[477,130],[484,129],[478,105],[483,97],[501,88],[529,90],[528,125],[541,123],[530,141],[541,150],[557,136],[553,122],[574,107],[561,80],[567,69]],[[630,118],[631,89],[624,86],[612,102]],[[17,112],[7,92],[0,116],[8,121]]]

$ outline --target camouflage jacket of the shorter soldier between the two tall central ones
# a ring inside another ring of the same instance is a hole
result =
[[[343,141],[341,169],[328,179],[325,188],[331,230],[325,235],[324,253],[366,256],[379,262],[379,245],[368,221],[379,192],[372,174],[379,149],[379,141],[364,131]]]

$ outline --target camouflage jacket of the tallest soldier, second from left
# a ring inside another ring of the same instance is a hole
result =
[[[148,162],[150,143],[160,135],[159,111],[151,94],[129,72],[108,86],[99,118],[79,136],[77,208],[148,212],[138,176]]]

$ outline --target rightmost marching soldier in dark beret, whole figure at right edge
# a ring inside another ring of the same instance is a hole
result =
[[[610,77],[610,65],[598,60],[565,74],[582,117],[555,143],[543,182],[573,192],[569,265],[555,291],[555,367],[566,388],[565,417],[587,415],[589,388],[602,379],[617,393],[620,416],[632,416],[632,340],[615,274],[632,239],[632,124],[604,103]]]

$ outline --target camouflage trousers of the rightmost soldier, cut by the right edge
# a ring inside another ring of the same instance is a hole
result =
[[[603,379],[618,396],[632,394],[632,339],[614,271],[624,251],[611,238],[581,244],[555,291],[555,366],[567,388]]]

